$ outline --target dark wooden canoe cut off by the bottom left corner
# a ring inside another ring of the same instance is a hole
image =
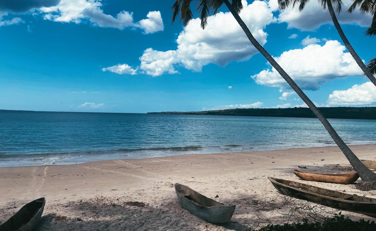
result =
[[[0,230],[32,231],[42,216],[45,202],[45,198],[42,197],[24,205],[11,218],[0,225]]]

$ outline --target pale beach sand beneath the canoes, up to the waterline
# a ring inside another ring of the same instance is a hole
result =
[[[376,159],[376,145],[351,148],[360,159]],[[351,171],[337,147],[0,168],[0,222],[25,203],[44,196],[47,202],[36,231],[246,230],[259,222],[267,225],[287,221],[279,213],[266,214],[268,220],[262,220],[253,212],[252,201],[265,194],[271,198],[280,195],[268,181],[269,176],[376,198],[376,191],[360,192],[353,185],[299,180],[293,174],[298,165],[310,172]],[[219,226],[191,215],[180,207],[173,183],[235,204],[232,219]],[[127,203],[132,201],[146,206]],[[374,220],[362,214],[344,214],[352,219]]]

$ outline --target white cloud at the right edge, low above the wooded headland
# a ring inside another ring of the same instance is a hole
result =
[[[327,103],[330,106],[376,104],[376,87],[371,82],[366,82],[344,91],[333,91]]]

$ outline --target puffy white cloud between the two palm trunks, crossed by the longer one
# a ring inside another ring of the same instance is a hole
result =
[[[275,57],[275,60],[300,88],[317,90],[323,83],[333,79],[363,74],[351,54],[344,50],[346,48],[340,42],[331,40],[323,46],[312,44],[302,49],[285,51]],[[274,68],[263,70],[251,77],[256,83],[280,88],[281,92],[290,89]]]

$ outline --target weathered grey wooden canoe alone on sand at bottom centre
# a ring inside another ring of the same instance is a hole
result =
[[[194,216],[214,224],[223,224],[231,219],[235,205],[224,205],[182,184],[174,186],[180,205]]]

